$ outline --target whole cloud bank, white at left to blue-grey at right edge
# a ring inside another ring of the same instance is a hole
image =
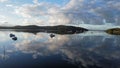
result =
[[[33,0],[33,2],[34,4],[26,4],[19,7],[16,10],[17,14],[26,18],[44,18],[46,20],[44,23],[49,25],[79,25],[83,23],[92,25],[112,23],[113,25],[120,25],[119,0],[70,0],[64,6],[39,3],[38,0]]]

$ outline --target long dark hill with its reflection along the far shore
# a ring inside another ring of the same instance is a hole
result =
[[[82,27],[75,26],[36,26],[36,25],[28,25],[28,26],[14,26],[14,27],[0,27],[0,29],[12,29],[17,32],[29,32],[29,33],[38,33],[38,32],[47,32],[47,33],[56,33],[56,34],[74,34],[74,33],[82,33],[84,31],[88,31],[88,29]]]

